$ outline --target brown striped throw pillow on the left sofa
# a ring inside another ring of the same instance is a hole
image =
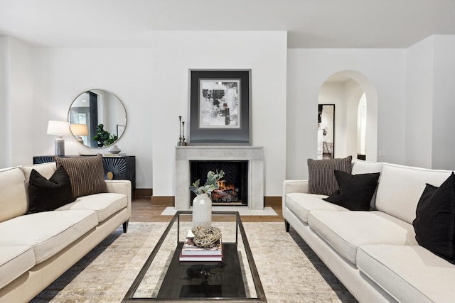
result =
[[[54,160],[57,167],[63,166],[68,172],[74,197],[107,192],[102,155],[69,158],[54,156]]]

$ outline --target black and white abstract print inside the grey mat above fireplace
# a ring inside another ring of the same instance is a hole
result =
[[[199,128],[240,128],[240,79],[199,81]]]

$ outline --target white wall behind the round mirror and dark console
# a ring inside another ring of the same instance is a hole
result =
[[[127,127],[117,142],[122,153],[136,156],[136,187],[151,188],[152,53],[145,48],[36,48],[34,50],[33,155],[53,155],[55,136],[46,135],[48,120],[66,121],[73,100],[89,89],[108,90],[122,100]],[[108,153],[65,136],[65,154]],[[29,155],[30,157],[33,155]],[[31,161],[31,160],[30,160]]]

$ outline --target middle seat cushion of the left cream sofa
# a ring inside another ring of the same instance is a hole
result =
[[[44,211],[0,223],[0,246],[31,246],[36,264],[43,262],[95,228],[95,211]]]

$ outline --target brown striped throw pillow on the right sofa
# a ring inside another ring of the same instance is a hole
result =
[[[353,169],[353,157],[337,159],[313,160],[308,159],[308,186],[310,194],[325,194],[328,196],[338,189],[335,170],[350,172]]]

